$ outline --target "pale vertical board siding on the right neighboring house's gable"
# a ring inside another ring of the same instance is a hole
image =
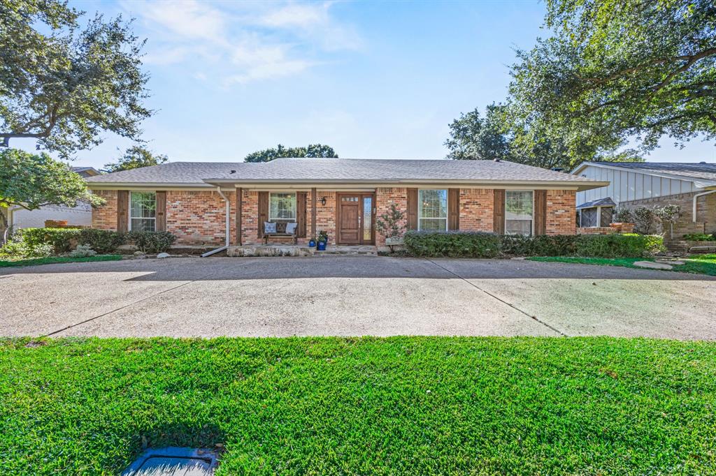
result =
[[[577,192],[577,204],[611,197],[616,204],[699,190],[691,180],[669,179],[642,172],[608,169],[587,165],[579,175],[588,179],[609,181],[608,187]]]

